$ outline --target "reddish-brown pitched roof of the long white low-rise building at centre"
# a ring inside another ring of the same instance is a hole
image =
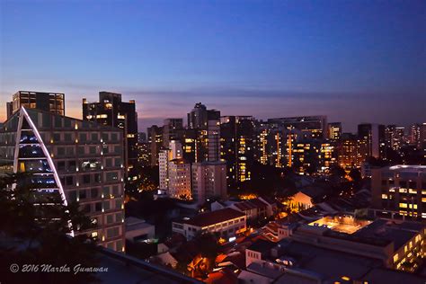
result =
[[[235,209],[219,209],[216,211],[197,215],[189,220],[184,220],[183,223],[192,226],[210,226],[217,223],[225,222],[227,220],[235,219],[237,217],[245,217],[245,215],[244,213]]]

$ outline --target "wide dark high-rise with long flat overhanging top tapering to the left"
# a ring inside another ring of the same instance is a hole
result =
[[[327,138],[326,116],[278,118],[270,119],[268,123],[275,123],[286,129],[300,130],[303,138]]]

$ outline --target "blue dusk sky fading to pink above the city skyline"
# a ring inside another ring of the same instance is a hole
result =
[[[426,122],[425,1],[0,0],[0,121],[18,90],[137,102],[139,130],[195,102],[259,119]]]

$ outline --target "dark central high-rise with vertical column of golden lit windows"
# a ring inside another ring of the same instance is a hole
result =
[[[226,161],[229,185],[250,181],[253,168],[253,117],[220,118],[221,159]]]

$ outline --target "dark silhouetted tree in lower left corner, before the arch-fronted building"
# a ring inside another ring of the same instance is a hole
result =
[[[28,174],[12,174],[0,178],[0,267],[7,283],[89,283],[92,273],[73,272],[76,264],[95,267],[95,244],[87,235],[70,237],[72,230],[81,233],[93,226],[78,209],[77,203],[62,205],[58,195],[35,191]],[[12,190],[12,185],[16,187]],[[57,192],[58,193],[58,192]],[[39,204],[39,205],[37,205]],[[17,263],[34,264],[38,271],[11,273]],[[68,267],[70,272],[41,272],[41,265]]]

